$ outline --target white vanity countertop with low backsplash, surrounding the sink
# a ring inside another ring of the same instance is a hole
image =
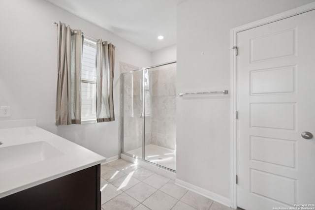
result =
[[[49,147],[56,149],[59,154],[31,164],[24,165],[22,161],[17,163],[16,167],[6,164],[5,156],[0,158],[0,198],[106,161],[105,157],[35,124],[35,120],[0,121],[0,142],[2,142],[0,152],[4,147],[44,142],[45,145],[48,143]],[[23,150],[23,146],[21,148]],[[25,152],[28,151],[23,150],[23,153]],[[12,162],[14,155],[16,154],[8,154],[10,158],[7,159]]]

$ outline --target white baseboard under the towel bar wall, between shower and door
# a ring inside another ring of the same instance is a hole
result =
[[[182,187],[185,187],[195,193],[198,193],[200,195],[203,195],[217,203],[220,203],[224,206],[227,206],[227,207],[230,207],[231,206],[231,200],[229,198],[226,198],[224,196],[221,196],[217,193],[214,193],[214,192],[211,192],[209,190],[206,190],[206,189],[203,189],[201,187],[198,187],[196,185],[193,185],[193,184],[190,184],[186,181],[183,181],[183,180],[179,180],[179,179],[176,179],[175,180],[175,184],[177,185],[180,185]]]

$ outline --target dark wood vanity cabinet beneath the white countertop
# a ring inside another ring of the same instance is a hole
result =
[[[99,188],[100,164],[0,198],[0,210],[100,210]]]

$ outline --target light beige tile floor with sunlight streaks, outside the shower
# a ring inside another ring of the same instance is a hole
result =
[[[102,210],[232,210],[123,159],[101,166]]]

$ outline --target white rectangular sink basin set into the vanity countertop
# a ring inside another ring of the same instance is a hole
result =
[[[30,165],[63,155],[63,152],[47,142],[33,142],[28,144],[0,147],[0,171]]]

